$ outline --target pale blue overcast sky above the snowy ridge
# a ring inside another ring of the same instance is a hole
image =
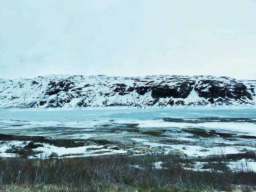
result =
[[[0,0],[0,79],[256,79],[256,0]]]

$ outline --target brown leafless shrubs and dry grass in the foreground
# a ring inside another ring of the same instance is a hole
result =
[[[6,192],[199,192],[256,189],[256,173],[232,172],[219,160],[218,169],[191,171],[192,163],[172,155],[80,158],[1,158],[0,191]],[[165,169],[154,166],[163,162]],[[140,165],[139,167],[137,165]],[[220,171],[221,170],[221,171]]]

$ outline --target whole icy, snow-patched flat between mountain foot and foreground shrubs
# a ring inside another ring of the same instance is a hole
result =
[[[12,108],[0,110],[0,133],[1,157],[249,154],[256,151],[256,110]],[[246,162],[256,171],[253,158]]]

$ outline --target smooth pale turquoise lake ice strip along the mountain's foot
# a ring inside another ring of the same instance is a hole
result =
[[[54,110],[54,111],[15,111],[0,109],[0,120],[20,120],[38,122],[73,122],[73,121],[93,121],[93,120],[150,120],[160,118],[256,118],[256,109],[90,109],[90,110]]]

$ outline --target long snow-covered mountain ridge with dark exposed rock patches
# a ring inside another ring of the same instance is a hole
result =
[[[0,79],[0,107],[256,106],[256,80],[214,76]]]

